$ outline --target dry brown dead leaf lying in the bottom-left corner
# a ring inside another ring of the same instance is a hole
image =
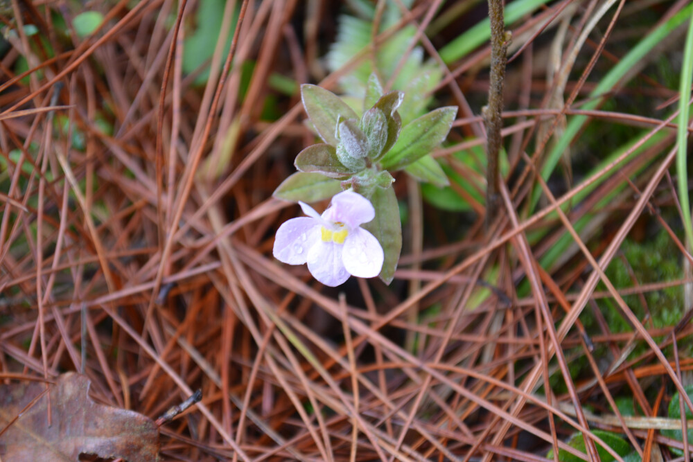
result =
[[[96,454],[102,459],[158,461],[157,425],[137,412],[97,404],[89,398],[89,385],[85,375],[76,373],[61,375],[49,385],[51,425],[49,396],[41,396],[44,384],[0,385],[0,428],[7,427],[0,436],[0,459],[74,462],[80,454]]]

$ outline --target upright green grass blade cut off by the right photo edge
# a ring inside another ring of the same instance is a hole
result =
[[[686,35],[686,43],[683,50],[683,66],[681,68],[681,86],[678,99],[678,130],[676,132],[676,172],[678,175],[678,200],[681,202],[683,212],[683,228],[686,231],[688,249],[693,247],[693,228],[691,226],[691,208],[688,199],[688,169],[686,162],[686,145],[688,141],[688,121],[691,96],[691,81],[693,80],[693,12],[691,13],[690,26]]]

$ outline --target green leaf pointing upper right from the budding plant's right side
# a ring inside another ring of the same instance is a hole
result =
[[[383,168],[400,170],[431,152],[446,139],[456,115],[457,107],[441,107],[409,123],[380,162]]]

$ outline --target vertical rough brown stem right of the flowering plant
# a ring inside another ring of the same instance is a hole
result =
[[[491,75],[489,81],[489,105],[482,109],[486,124],[486,229],[493,217],[498,214],[498,154],[502,146],[500,129],[503,110],[503,80],[505,63],[510,43],[510,33],[503,30],[503,0],[489,0],[489,19],[491,19]]]

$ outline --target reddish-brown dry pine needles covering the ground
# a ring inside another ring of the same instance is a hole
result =
[[[545,206],[525,216],[518,211],[530,186],[544,185],[530,170],[518,170],[514,188],[501,185],[502,213],[488,233],[478,202],[462,231],[429,230],[425,222],[444,223],[448,215],[417,208],[416,184],[398,176],[398,197],[410,201],[412,215],[396,281],[389,287],[350,281],[340,299],[305,268],[277,265],[271,257],[277,226],[297,214],[296,207],[272,199],[272,190],[290,175],[292,157],[313,136],[301,125],[296,96],[278,99],[283,116],[271,123],[261,120],[258,103],[272,92],[267,79],[273,72],[300,82],[320,80],[318,52],[304,51],[301,43],[324,39],[319,25],[333,24],[337,8],[303,16],[297,2],[277,0],[244,10],[229,52],[238,62],[256,62],[244,99],[237,96],[237,69],[223,81],[213,71],[204,89],[191,85],[194,75],[182,74],[180,49],[171,51],[190,33],[177,25],[191,19],[182,19],[172,2],[142,1],[132,10],[127,4],[104,10],[105,26],[89,37],[56,39],[55,58],[17,27],[3,58],[0,151],[9,167],[0,174],[8,185],[0,196],[0,377],[53,379],[63,371],[84,371],[98,401],[152,417],[199,387],[202,402],[162,428],[161,454],[172,459],[495,454],[536,460],[555,445],[575,453],[563,441],[574,431],[592,436],[588,428],[620,432],[640,452],[667,442],[659,432],[635,429],[609,404],[615,396],[633,396],[643,419],[656,417],[661,397],[681,387],[679,374],[693,363],[664,357],[672,328],[655,329],[633,317],[622,296],[690,281],[630,290],[607,283],[606,292],[596,287],[604,280],[598,268],[614,258],[646,210],[683,254],[663,213],[676,208],[667,170],[672,121],[591,112],[610,123],[664,131],[665,140],[643,150],[620,174],[602,170],[604,183],[583,207],[557,217],[550,213],[589,182],[555,198],[546,189]],[[419,2],[407,21],[429,21],[436,4]],[[514,42],[529,42],[532,28],[561,5],[518,26]],[[77,13],[60,10],[67,19]],[[182,19],[173,28],[172,15]],[[225,25],[231,17],[225,15]],[[3,19],[17,26],[31,22],[57,37],[55,24],[30,3],[21,2],[16,23]],[[301,21],[306,27],[297,30]],[[553,37],[556,31],[543,33]],[[618,59],[603,43],[587,45],[588,60]],[[481,50],[451,66],[455,80],[444,80],[436,93],[441,103],[460,107],[450,136],[459,143],[455,150],[483,143],[480,118],[459,99],[486,93],[483,73],[473,75],[487,66],[489,48]],[[19,55],[40,68],[28,83],[11,79]],[[546,80],[535,79],[531,56],[530,47],[520,57],[525,64],[508,77],[523,82],[520,91],[507,92],[506,105],[523,109],[504,115],[502,134],[513,163],[527,145],[535,145],[528,154],[541,159],[550,137],[544,129],[538,136],[538,121],[556,121],[549,129],[556,130],[561,113],[579,113],[570,102],[588,89],[584,79],[568,82],[565,107],[535,99],[549,91]],[[212,66],[228,62],[218,50]],[[571,75],[580,73],[588,75],[586,69]],[[335,89],[338,77],[333,73],[320,83]],[[647,90],[672,96],[659,86]],[[100,130],[98,119],[113,133]],[[236,139],[229,138],[235,130]],[[76,148],[76,136],[83,148]],[[436,153],[451,159],[446,154]],[[473,176],[455,161],[451,165]],[[571,258],[541,269],[537,259],[558,236],[624,182],[627,190],[610,204],[611,216],[594,218],[595,228],[608,232],[591,238],[591,251],[588,239],[576,234]],[[527,233],[537,229],[549,233],[532,248]],[[489,287],[492,268],[498,271]],[[520,279],[532,287],[526,296],[518,296]],[[581,333],[578,315],[585,307],[598,313],[594,304],[603,297],[621,305],[632,332],[611,332],[597,316],[599,332],[589,338]],[[480,304],[471,310],[474,301]],[[687,324],[680,327],[679,342],[690,335]],[[595,351],[606,346],[608,358],[593,357],[587,341]],[[629,357],[635,344],[645,348]],[[588,366],[572,380],[568,366],[580,358]],[[604,361],[611,373],[604,374]],[[538,396],[550,375],[561,377],[565,388]],[[653,389],[660,391],[656,402],[648,394]],[[600,416],[586,414],[585,402]],[[588,444],[587,451],[594,456],[595,446]]]

